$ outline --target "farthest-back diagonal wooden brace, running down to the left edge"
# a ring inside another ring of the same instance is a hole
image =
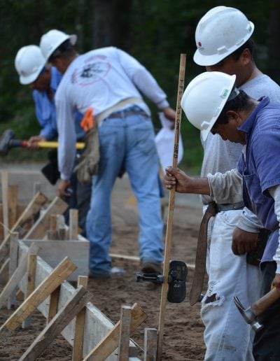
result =
[[[25,211],[22,212],[20,215],[20,218],[18,218],[17,222],[15,222],[15,225],[13,225],[11,232],[19,232],[20,229],[25,227],[25,224],[27,222],[30,222],[30,220],[33,220],[34,215],[40,211],[43,204],[48,201],[48,198],[45,197],[42,193],[37,193],[33,199],[31,199],[30,203],[28,204],[27,208],[25,208]],[[0,261],[3,260],[3,258],[6,257],[8,253],[7,244],[10,240],[10,234],[5,236],[3,239],[1,245],[0,245]]]

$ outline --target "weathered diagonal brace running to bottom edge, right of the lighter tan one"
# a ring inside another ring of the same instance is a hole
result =
[[[38,358],[45,348],[62,332],[64,327],[76,316],[78,312],[92,298],[90,292],[82,285],[78,287],[74,295],[69,299],[62,309],[55,315],[45,329],[38,335],[35,341],[22,355],[20,361],[33,361]]]

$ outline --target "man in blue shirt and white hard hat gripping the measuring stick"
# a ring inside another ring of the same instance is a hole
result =
[[[272,285],[280,291],[280,104],[270,103],[268,97],[255,101],[237,90],[235,80],[235,75],[221,72],[202,73],[186,88],[181,105],[188,120],[201,130],[204,140],[211,132],[223,141],[244,146],[238,171],[193,179],[179,169],[168,167],[165,185],[167,189],[176,186],[177,192],[208,194],[217,203],[235,202],[243,194],[245,206],[270,231],[260,263],[264,295]],[[254,246],[249,243],[248,248],[241,248],[233,243],[232,251],[242,255]],[[242,299],[243,289],[236,288],[235,292]],[[255,334],[255,360],[280,359],[279,306],[280,300],[260,316],[264,328]],[[235,338],[243,347],[238,333]]]

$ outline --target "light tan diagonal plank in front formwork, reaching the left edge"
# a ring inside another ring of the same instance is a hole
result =
[[[25,318],[31,315],[36,307],[50,295],[66,278],[76,269],[76,264],[65,257],[64,260],[57,265],[52,273],[38,285],[34,292],[25,299],[13,315],[6,320],[0,327],[0,341],[6,339],[11,331],[15,330]]]

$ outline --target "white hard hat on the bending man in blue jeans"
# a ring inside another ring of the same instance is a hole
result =
[[[63,31],[52,29],[41,36],[40,48],[43,56],[46,60],[52,55],[53,52],[64,43],[66,40],[70,40],[71,45],[75,45],[77,36],[75,34],[68,35]]]

